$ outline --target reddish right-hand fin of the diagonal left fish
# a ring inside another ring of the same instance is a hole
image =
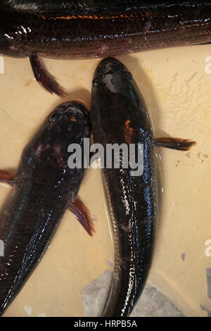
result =
[[[79,223],[81,223],[88,234],[92,236],[93,232],[95,232],[94,223],[91,219],[89,209],[83,204],[83,202],[77,198],[68,209],[70,209],[71,213],[73,213],[77,220],[79,220]]]

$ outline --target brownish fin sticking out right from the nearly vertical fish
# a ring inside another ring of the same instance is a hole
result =
[[[161,137],[153,140],[155,146],[166,147],[167,149],[177,149],[178,151],[188,151],[196,142],[189,139]]]

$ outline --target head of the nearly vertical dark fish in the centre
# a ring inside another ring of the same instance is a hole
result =
[[[94,73],[91,90],[94,142],[141,142],[152,134],[145,100],[132,74],[117,58],[104,58]]]

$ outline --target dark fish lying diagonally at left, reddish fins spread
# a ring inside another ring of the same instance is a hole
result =
[[[0,211],[0,315],[4,313],[44,255],[68,209],[90,236],[94,225],[77,194],[85,168],[70,168],[70,144],[83,151],[91,132],[89,112],[79,101],[57,106],[23,149],[18,170],[0,171],[12,185]]]

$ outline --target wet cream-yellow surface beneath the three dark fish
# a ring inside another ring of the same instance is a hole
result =
[[[162,199],[148,282],[184,316],[207,316],[200,304],[211,311],[205,273],[210,261],[205,242],[211,238],[211,75],[205,72],[209,54],[207,45],[120,57],[146,99],[156,137],[169,135],[197,142],[189,157],[185,152],[156,148],[162,169]],[[98,59],[45,58],[44,63],[68,90],[62,101],[81,99],[89,108]],[[0,88],[0,169],[15,171],[23,146],[61,99],[37,84],[27,59],[4,58]],[[10,189],[0,185],[1,205]],[[113,242],[103,195],[100,170],[88,169],[79,197],[94,216],[94,237],[87,235],[71,213],[65,213],[39,268],[4,316],[28,316],[24,306],[32,307],[30,316],[83,316],[82,289],[112,269],[108,260],[113,262]]]

